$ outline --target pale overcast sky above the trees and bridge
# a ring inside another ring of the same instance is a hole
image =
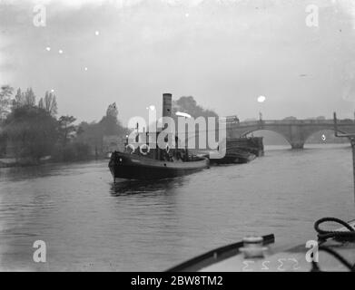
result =
[[[310,4],[319,27],[306,25]],[[353,0],[0,0],[0,84],[54,90],[79,121],[116,102],[126,123],[163,92],[242,120],[352,117],[354,19]]]

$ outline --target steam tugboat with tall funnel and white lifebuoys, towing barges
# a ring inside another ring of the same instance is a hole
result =
[[[172,94],[163,94],[163,117],[172,116]],[[138,128],[137,128],[138,131]],[[149,134],[143,132],[143,134]],[[175,139],[176,140],[176,139]],[[157,147],[157,146],[156,146]],[[132,144],[125,144],[125,150],[114,151],[109,168],[116,179],[169,179],[209,168],[207,158],[189,154],[187,149],[150,149],[144,143],[136,150]]]

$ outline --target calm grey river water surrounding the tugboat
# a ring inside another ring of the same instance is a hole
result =
[[[354,214],[349,144],[116,186],[107,161],[0,169],[0,269],[160,271],[249,234],[304,244],[317,218]]]

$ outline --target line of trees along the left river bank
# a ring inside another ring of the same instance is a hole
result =
[[[57,161],[86,160],[104,155],[105,135],[127,133],[115,103],[101,121],[75,124],[71,115],[57,117],[54,92],[45,92],[38,102],[32,88],[22,92],[9,85],[0,88],[0,157],[38,162],[50,156]]]

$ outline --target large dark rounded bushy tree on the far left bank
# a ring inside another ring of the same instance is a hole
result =
[[[15,156],[39,160],[51,154],[57,140],[57,122],[43,109],[31,105],[14,108],[5,120],[5,136]]]

